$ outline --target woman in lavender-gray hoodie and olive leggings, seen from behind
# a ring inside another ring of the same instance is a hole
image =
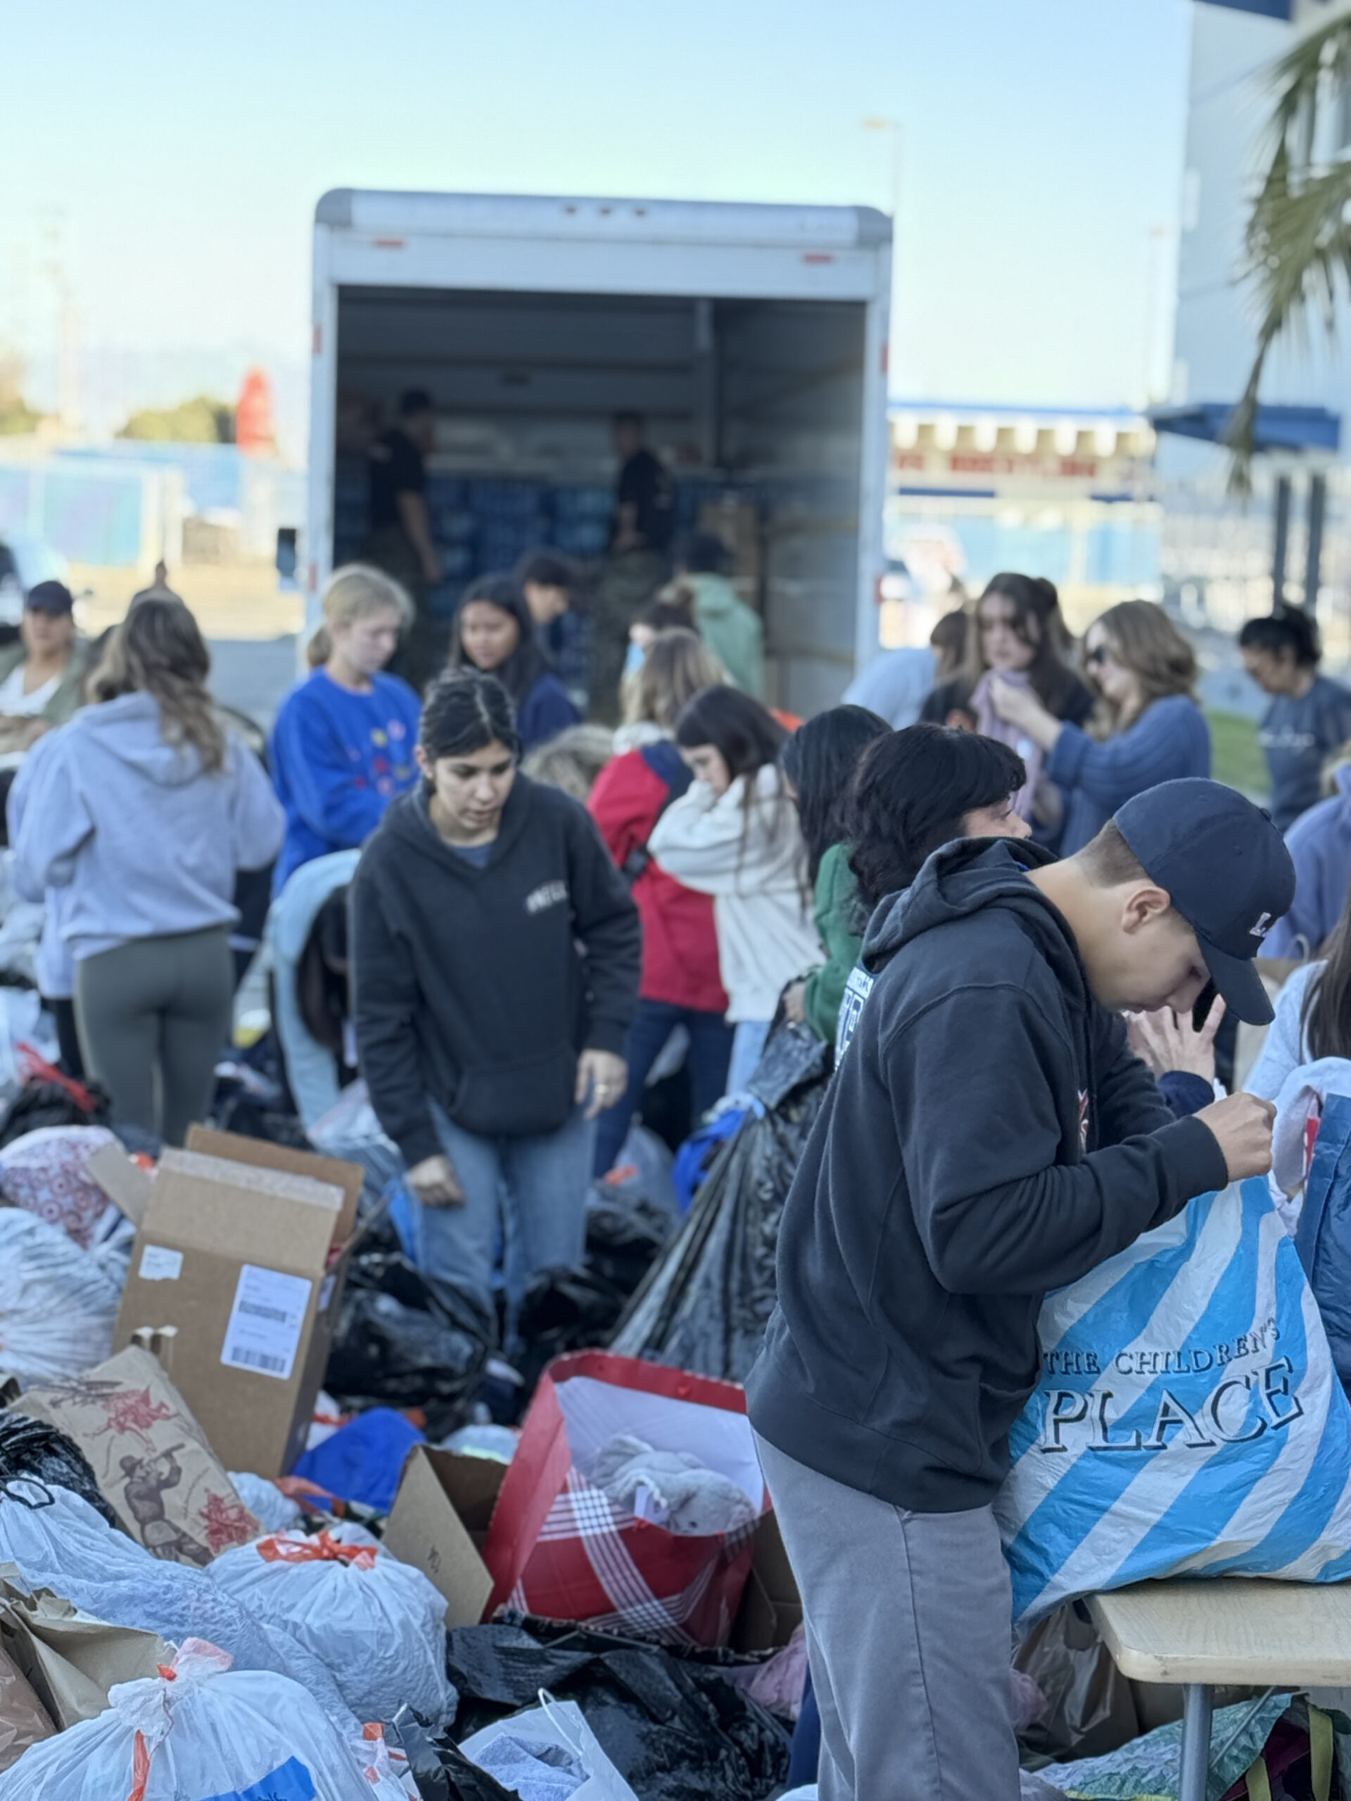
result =
[[[238,870],[285,832],[263,765],[225,731],[178,600],[133,603],[83,713],[43,760],[14,845],[25,888],[67,891],[85,1066],[119,1120],[182,1138],[229,1039]]]

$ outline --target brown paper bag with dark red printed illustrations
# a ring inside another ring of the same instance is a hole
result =
[[[263,1531],[150,1351],[131,1345],[72,1381],[34,1383],[14,1412],[74,1439],[122,1529],[151,1556],[200,1569]]]

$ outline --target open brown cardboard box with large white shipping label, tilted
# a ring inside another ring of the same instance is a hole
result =
[[[146,1198],[115,1344],[177,1326],[173,1381],[227,1470],[304,1450],[353,1244],[362,1171],[195,1126]]]

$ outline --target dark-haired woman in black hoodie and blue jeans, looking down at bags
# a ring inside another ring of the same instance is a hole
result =
[[[357,1055],[418,1201],[416,1263],[492,1304],[501,1241],[508,1318],[537,1270],[582,1261],[639,971],[638,910],[600,832],[519,755],[501,683],[438,681],[422,787],[351,884]]]

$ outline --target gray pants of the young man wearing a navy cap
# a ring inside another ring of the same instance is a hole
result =
[[[904,1513],[757,1448],[807,1615],[821,1801],[1018,1801],[991,1509]]]

